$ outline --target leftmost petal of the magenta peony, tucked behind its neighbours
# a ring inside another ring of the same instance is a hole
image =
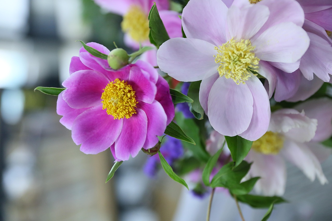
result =
[[[56,102],[56,113],[62,115],[60,123],[67,129],[71,130],[75,118],[80,115],[87,108],[74,109],[68,106],[68,104],[62,98],[63,92],[58,95],[58,100]]]

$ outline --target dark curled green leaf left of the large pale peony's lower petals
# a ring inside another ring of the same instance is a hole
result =
[[[194,114],[194,116],[199,120],[203,119],[204,116],[204,110],[201,106],[199,98],[200,86],[201,86],[201,81],[195,81],[190,84],[188,89],[188,97],[194,100],[194,102],[191,104],[191,108],[197,114],[192,110],[191,111]]]

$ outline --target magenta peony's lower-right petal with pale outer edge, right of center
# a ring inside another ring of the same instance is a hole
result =
[[[152,104],[138,103],[137,107],[142,109],[147,116],[147,135],[143,145],[144,149],[149,149],[155,146],[159,139],[157,136],[162,136],[166,129],[167,115],[157,101]]]

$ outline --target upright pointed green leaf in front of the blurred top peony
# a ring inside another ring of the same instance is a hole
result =
[[[149,19],[149,29],[150,29],[149,32],[150,42],[156,45],[157,48],[159,48],[159,46],[162,43],[164,43],[169,39],[169,36],[159,16],[156,3],[154,3],[153,6],[151,7],[148,19]]]

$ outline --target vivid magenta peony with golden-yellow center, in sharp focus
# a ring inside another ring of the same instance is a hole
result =
[[[109,54],[98,43],[87,45]],[[135,157],[157,142],[174,117],[169,86],[148,63],[138,60],[114,71],[107,60],[83,47],[72,57],[70,76],[58,96],[60,122],[72,131],[73,141],[86,154],[111,147],[117,161]]]

